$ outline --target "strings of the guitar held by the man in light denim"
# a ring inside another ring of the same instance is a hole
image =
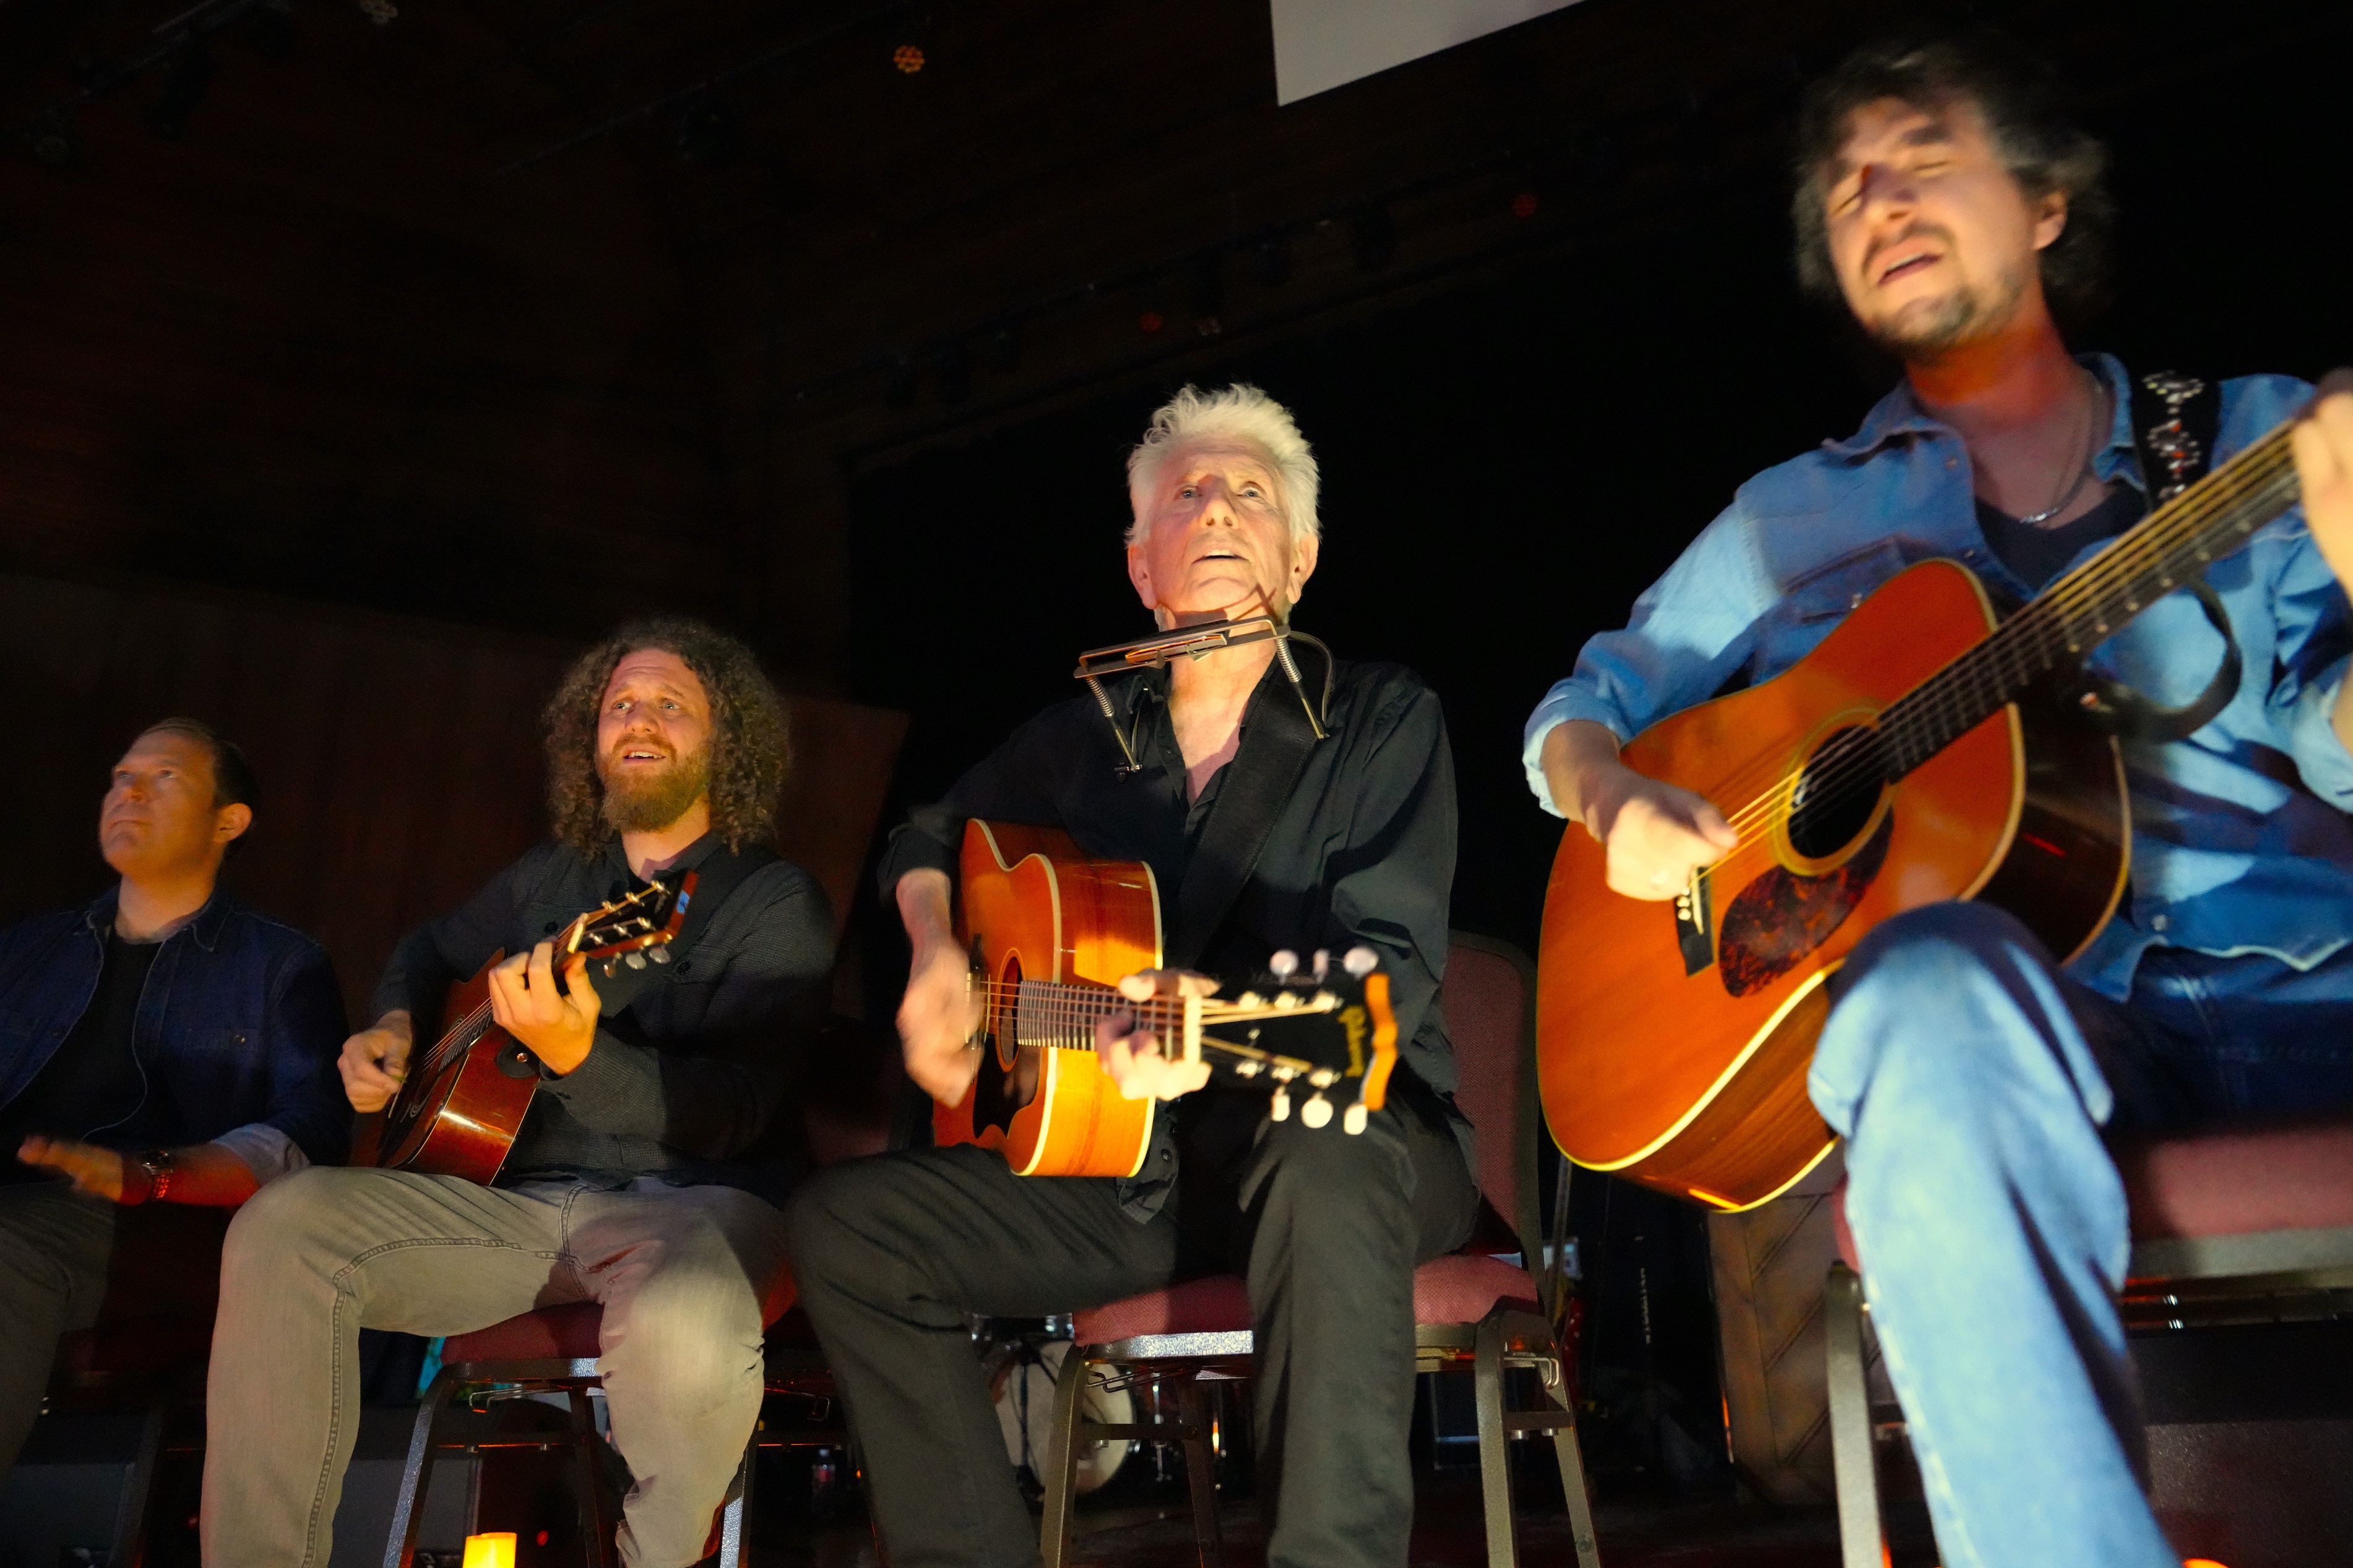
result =
[[[2224,524],[2233,524],[2240,534],[2252,534],[2261,527],[2252,512],[2261,510],[2264,503],[2280,498],[2275,491],[2282,480],[2294,480],[2287,425],[2280,425],[2249,444],[2245,451],[2224,463],[2224,468],[2212,473],[2205,484],[2198,484],[2188,494],[2160,505],[2144,527],[2118,541],[2113,550],[2104,550],[2071,571],[2052,585],[2049,592],[2026,604],[2026,609],[2012,616],[2005,625],[1995,628],[1986,639],[1972,644],[1941,670],[1889,703],[1880,710],[1878,726],[1857,726],[1852,736],[1838,736],[1831,748],[1807,759],[1809,766],[1781,771],[1769,790],[1727,818],[1734,825],[1737,839],[1715,860],[1715,865],[1725,865],[1744,849],[1762,842],[1769,825],[1779,820],[1779,809],[1786,806],[1800,788],[1807,788],[1807,773],[1812,773],[1809,804],[1838,804],[1859,792],[1859,788],[1878,790],[1889,783],[1885,769],[1889,745],[1915,743],[1925,736],[1934,736],[1939,729],[1951,731],[1925,750],[1925,759],[1967,733],[1967,729],[1974,729],[1984,719],[1993,717],[1993,712],[2009,701],[2005,691],[2031,684],[2047,670],[2057,668],[2059,649],[2066,649],[2068,654],[2080,651],[2087,632],[2071,625],[2071,616],[2075,611],[2097,609],[2104,602],[2122,602],[2125,618],[2129,618],[2132,614],[2139,614],[2139,599],[2153,599],[2172,592],[2181,585],[2184,574],[2202,574],[2205,564],[2214,559],[2212,550],[2205,545],[2212,543],[2212,534],[2219,531],[2207,524],[2221,520]],[[2292,498],[2285,498],[2273,515],[2278,510],[2287,510],[2292,503]],[[2268,522],[2268,517],[2264,517],[2264,522]],[[2188,557],[2198,559],[2195,571],[2188,571]],[[2144,592],[2146,588],[2155,588],[2158,592]],[[2092,630],[2099,639],[2111,635],[2111,618],[2113,616],[2094,618]],[[2122,618],[2113,621],[2115,625],[2122,625]],[[2005,658],[2009,654],[2019,654],[2014,672],[2000,668],[2012,663]],[[1892,724],[1889,717],[1894,719]],[[1753,766],[1748,769],[1748,776],[1760,771],[1765,769]]]

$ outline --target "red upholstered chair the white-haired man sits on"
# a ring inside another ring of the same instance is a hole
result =
[[[1459,1105],[1480,1128],[1480,1192],[1522,1239],[1522,1255],[1544,1260],[1537,1241],[1537,976],[1527,954],[1480,936],[1454,933],[1447,950],[1445,1011],[1461,1065]],[[1579,1568],[1600,1568],[1593,1509],[1577,1448],[1553,1340],[1553,1300],[1560,1281],[1546,1262],[1537,1274],[1489,1255],[1435,1258],[1414,1272],[1414,1368],[1468,1368],[1478,1380],[1480,1481],[1487,1514],[1487,1563],[1513,1568],[1518,1540],[1511,1509],[1506,1439],[1551,1432],[1560,1483],[1569,1500]],[[1193,1279],[1078,1314],[1075,1345],[1054,1389],[1054,1439],[1042,1460],[1045,1523],[1040,1549],[1047,1568],[1071,1561],[1071,1505],[1078,1495],[1080,1443],[1108,1439],[1179,1441],[1193,1490],[1193,1535],[1202,1568],[1219,1568],[1217,1490],[1212,1483],[1209,1415],[1202,1380],[1247,1378],[1252,1363],[1249,1295],[1233,1274]],[[1504,1368],[1537,1368],[1544,1403],[1508,1410]],[[1082,1420],[1082,1389],[1092,1378],[1129,1375],[1176,1382],[1174,1422],[1106,1425]]]

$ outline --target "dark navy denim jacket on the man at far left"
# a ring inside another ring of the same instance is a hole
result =
[[[113,924],[108,889],[85,910],[0,929],[0,1105],[24,1093],[82,1020]],[[344,1032],[344,994],[325,950],[216,889],[155,954],[132,1051],[148,1093],[167,1098],[172,1145],[275,1128],[308,1161],[332,1164],[351,1147],[351,1105],[334,1070]],[[254,1164],[252,1150],[268,1143],[231,1147]]]

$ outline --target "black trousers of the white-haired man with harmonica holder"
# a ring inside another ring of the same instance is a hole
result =
[[[1224,1269],[1249,1281],[1257,1324],[1268,1563],[1405,1563],[1414,1265],[1471,1234],[1461,1145],[1398,1100],[1358,1138],[1268,1124],[1264,1095],[1202,1100],[1179,1192],[1148,1222],[1115,1180],[1021,1178],[976,1147],[835,1166],[793,1199],[793,1274],[892,1568],[1038,1563],[962,1312],[1042,1316]]]

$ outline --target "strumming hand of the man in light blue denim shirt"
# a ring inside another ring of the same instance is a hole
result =
[[[1612,893],[1673,898],[1694,870],[1739,844],[1739,835],[1704,797],[1635,773],[1617,752],[1617,736],[1602,724],[1555,724],[1544,736],[1553,804],[1609,853]]]

